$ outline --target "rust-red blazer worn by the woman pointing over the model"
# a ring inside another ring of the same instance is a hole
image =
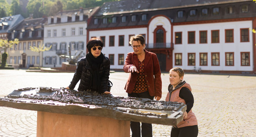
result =
[[[162,97],[162,80],[161,80],[161,70],[159,66],[159,62],[157,59],[157,55],[155,53],[145,51],[145,59],[144,59],[144,73],[145,79],[147,82],[147,86],[149,89],[150,96],[158,96]],[[135,65],[136,68],[139,68],[139,59],[138,56],[134,52],[128,53],[125,64],[124,64],[124,72],[128,73],[128,70],[131,66]],[[130,76],[125,84],[124,90],[127,93],[132,93],[134,86],[136,84],[136,80],[138,77],[137,72],[130,73]]]

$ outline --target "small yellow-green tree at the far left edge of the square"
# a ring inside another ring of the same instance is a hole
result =
[[[4,67],[6,65],[6,59],[8,57],[8,54],[6,53],[7,49],[12,47],[14,44],[18,44],[19,39],[14,39],[8,41],[8,39],[0,39],[0,50],[4,50],[4,53],[2,54],[2,65],[1,67]]]

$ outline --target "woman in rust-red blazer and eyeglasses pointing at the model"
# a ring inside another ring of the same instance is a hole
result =
[[[134,52],[128,53],[124,72],[130,73],[124,89],[128,97],[161,99],[161,70],[157,55],[145,50],[145,38],[142,35],[130,37]],[[132,137],[140,137],[140,122],[131,121]],[[152,137],[152,124],[141,124],[142,137]]]

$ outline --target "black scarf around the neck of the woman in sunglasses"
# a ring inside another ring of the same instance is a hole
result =
[[[87,53],[86,59],[88,60],[89,64],[91,65],[91,80],[90,80],[90,87],[92,87],[92,90],[96,90],[100,92],[101,90],[101,81],[100,81],[100,75],[99,75],[99,67],[100,64],[103,62],[103,54],[100,53],[100,55],[95,58],[91,52]]]

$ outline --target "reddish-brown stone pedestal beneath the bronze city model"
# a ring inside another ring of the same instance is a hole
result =
[[[37,111],[37,137],[130,137],[130,121]]]

